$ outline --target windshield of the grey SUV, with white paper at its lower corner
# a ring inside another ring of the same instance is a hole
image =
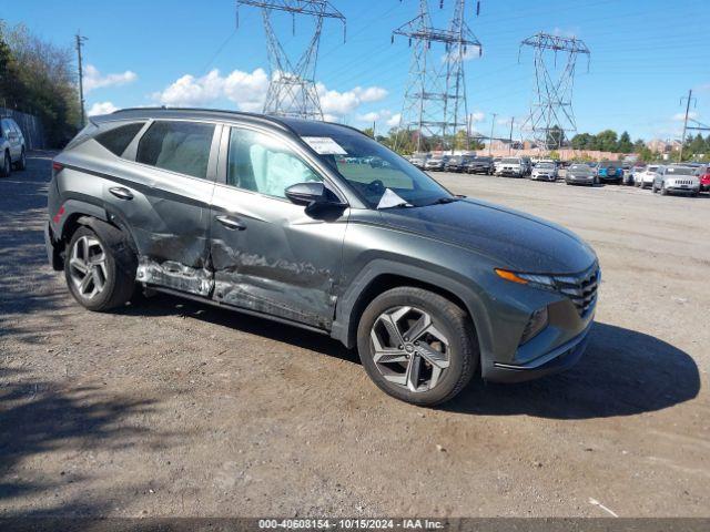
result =
[[[334,144],[329,143],[327,150],[314,150],[359,193],[371,208],[377,208],[388,190],[388,206],[392,203],[392,206],[407,204],[418,207],[440,198],[455,200],[427,174],[368,136],[343,130],[332,132],[328,140]],[[432,157],[429,161],[435,158],[442,160]],[[389,202],[392,193],[402,202]]]

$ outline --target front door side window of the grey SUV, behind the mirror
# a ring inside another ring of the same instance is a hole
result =
[[[227,155],[229,185],[275,197],[296,183],[322,181],[278,139],[255,131],[232,129]]]

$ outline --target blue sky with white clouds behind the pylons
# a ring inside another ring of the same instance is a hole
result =
[[[416,14],[416,0],[334,0],[347,18],[327,21],[317,80],[324,111],[337,120],[379,131],[402,109],[410,50],[390,32]],[[432,0],[435,24],[453,6]],[[611,127],[637,137],[680,133],[680,98],[694,89],[698,120],[710,122],[710,1],[708,0],[481,0],[468,23],[484,45],[466,62],[469,112],[475,127],[496,136],[515,116],[521,121],[532,96],[532,55],[520,40],[545,31],[582,39],[591,50],[589,73],[578,63],[575,114],[579,132]],[[166,103],[256,110],[263,99],[267,60],[261,18],[241,8],[235,30],[234,0],[0,0],[0,18],[57,44],[71,45],[81,29],[89,38],[87,108],[110,110]],[[288,50],[307,38],[308,21],[275,19]],[[262,69],[262,70],[260,70]],[[516,133],[517,135],[517,133]]]

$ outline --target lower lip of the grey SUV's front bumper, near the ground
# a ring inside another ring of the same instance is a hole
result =
[[[589,331],[592,325],[594,320],[571,340],[529,362],[520,365],[494,362],[493,368],[488,368],[486,371],[486,380],[493,382],[523,382],[571,368],[587,349]]]

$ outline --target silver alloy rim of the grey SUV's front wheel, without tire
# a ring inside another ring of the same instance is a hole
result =
[[[386,310],[375,320],[369,336],[378,371],[409,391],[435,388],[449,367],[448,339],[419,308]]]

